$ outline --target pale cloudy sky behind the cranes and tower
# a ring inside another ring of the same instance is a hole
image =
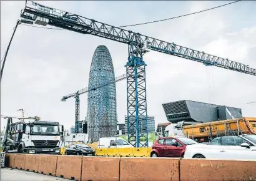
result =
[[[41,1],[112,26],[124,26],[179,16],[230,1]],[[25,1],[1,1],[1,57]],[[240,1],[192,16],[124,29],[256,68],[256,2]],[[47,26],[51,27],[51,26]],[[97,46],[108,47],[116,76],[126,72],[127,45],[67,30],[20,25],[7,56],[1,82],[1,115],[41,117],[74,125],[75,99],[64,95],[88,86]],[[195,100],[239,107],[244,117],[256,117],[256,77],[150,51],[147,64],[147,114],[167,122],[162,104]],[[117,82],[117,119],[127,114],[126,81]],[[80,118],[87,112],[87,94],[80,96]],[[1,129],[6,120],[1,119]]]

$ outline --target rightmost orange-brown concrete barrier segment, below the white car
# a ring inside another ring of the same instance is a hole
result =
[[[180,180],[256,180],[256,161],[182,159]]]

